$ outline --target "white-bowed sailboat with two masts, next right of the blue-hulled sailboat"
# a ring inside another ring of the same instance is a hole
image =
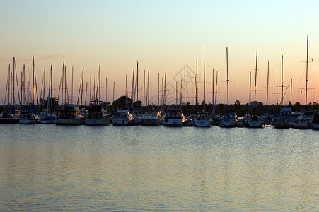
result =
[[[257,127],[262,127],[264,126],[264,122],[262,121],[260,116],[257,116],[257,114],[255,113],[256,110],[256,83],[257,83],[257,55],[258,55],[258,51],[256,51],[256,69],[255,69],[255,100],[254,100],[254,110],[253,110],[253,114],[251,114],[251,110],[250,110],[250,86],[251,86],[251,75],[250,75],[250,83],[249,83],[249,112],[248,115],[245,117],[245,126],[247,127],[253,127],[253,128],[257,128]]]

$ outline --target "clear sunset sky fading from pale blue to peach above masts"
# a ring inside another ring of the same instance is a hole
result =
[[[146,76],[149,70],[149,102],[155,104],[158,102],[158,74],[161,81],[165,69],[166,102],[175,103],[176,81],[180,98],[182,79],[182,102],[186,91],[186,102],[194,103],[196,59],[199,102],[202,102],[205,58],[206,102],[212,99],[214,69],[214,87],[218,71],[217,103],[226,103],[228,47],[231,103],[249,101],[249,75],[251,71],[254,89],[257,50],[256,100],[264,104],[267,102],[269,61],[268,104],[276,103],[276,70],[280,85],[283,55],[284,86],[290,86],[293,80],[292,87],[284,87],[284,104],[289,103],[291,90],[293,104],[304,104],[307,35],[308,60],[311,61],[308,63],[308,102],[319,102],[319,93],[316,92],[319,89],[318,8],[319,1],[0,0],[0,102],[4,103],[8,65],[11,64],[12,68],[13,57],[16,57],[18,76],[21,76],[23,64],[29,64],[32,70],[34,56],[39,90],[44,68],[48,70],[49,64],[54,63],[55,90],[58,92],[65,62],[69,96],[73,96],[73,102],[79,92],[82,66],[85,85],[86,82],[89,84],[90,76],[94,78],[94,74],[98,74],[101,64],[101,100],[105,101],[107,93],[108,101],[112,102],[113,83],[115,100],[125,95],[126,75],[131,91],[132,71],[137,70],[139,61],[139,100],[144,99],[144,70]],[[184,67],[187,73],[185,89]],[[86,89],[86,86],[83,87]],[[251,98],[254,99],[253,96]]]

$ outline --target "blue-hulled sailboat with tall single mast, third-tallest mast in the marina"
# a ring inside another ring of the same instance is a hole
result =
[[[228,79],[228,48],[226,47],[226,69],[227,69],[227,111],[221,117],[219,125],[221,127],[234,127],[237,125],[237,115],[236,112],[229,111],[229,79]]]

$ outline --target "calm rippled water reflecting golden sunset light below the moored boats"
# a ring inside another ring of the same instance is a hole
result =
[[[319,131],[0,130],[0,211],[319,211]]]

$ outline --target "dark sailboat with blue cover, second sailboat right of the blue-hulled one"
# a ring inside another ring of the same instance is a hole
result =
[[[284,90],[284,81],[283,81],[283,76],[284,76],[284,56],[282,55],[282,110],[280,112],[280,115],[277,117],[274,117],[272,120],[272,125],[274,128],[282,128],[282,129],[287,129],[290,128],[290,122],[289,119],[291,118],[291,108],[284,108],[283,107],[283,90]]]

